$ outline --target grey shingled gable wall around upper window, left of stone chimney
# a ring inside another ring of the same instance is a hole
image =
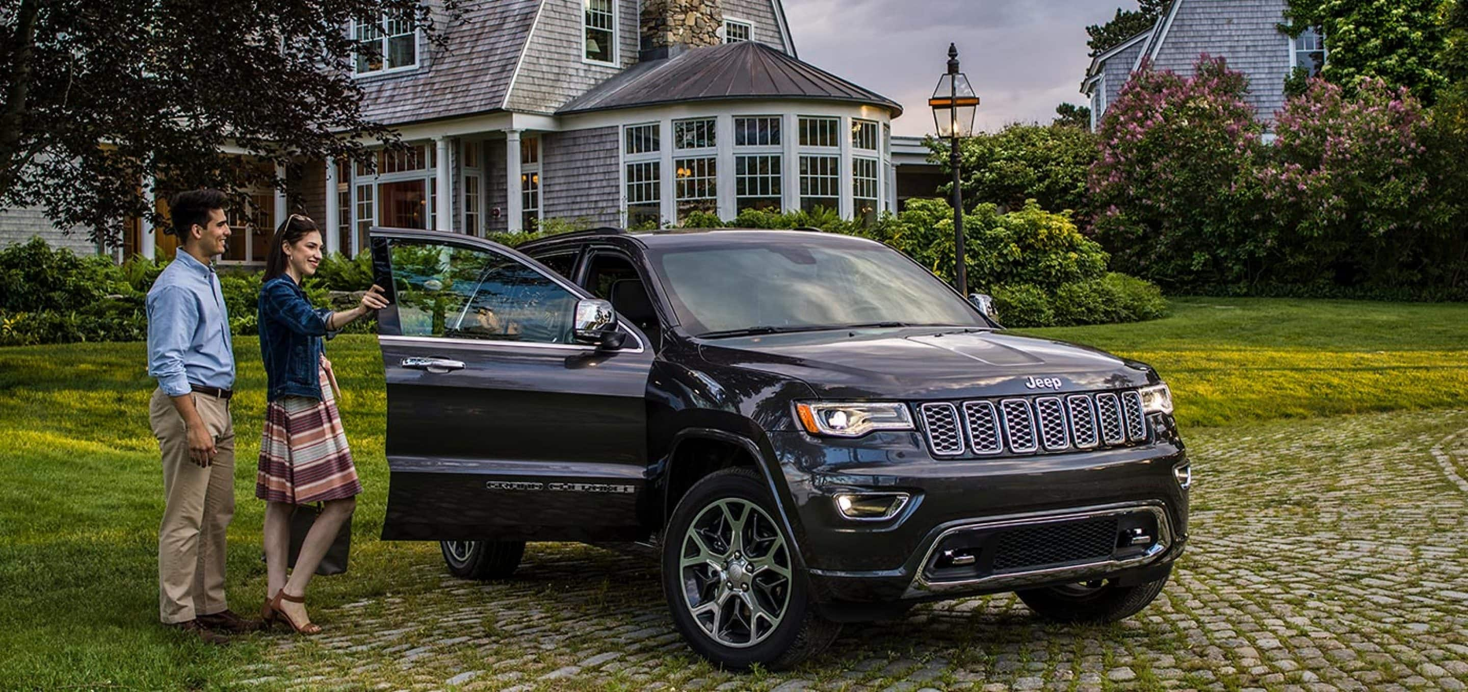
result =
[[[571,98],[636,63],[640,6],[637,0],[617,0],[619,66],[609,66],[583,60],[581,0],[545,0],[505,107],[521,113],[555,113]]]

